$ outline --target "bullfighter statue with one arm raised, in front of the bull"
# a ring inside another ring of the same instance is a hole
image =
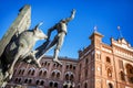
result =
[[[68,33],[66,25],[71,20],[74,19],[74,15],[75,15],[75,10],[73,9],[72,12],[71,12],[70,18],[62,19],[59,23],[57,23],[55,25],[53,25],[52,28],[50,28],[48,30],[48,40],[47,40],[47,42],[49,42],[52,31],[57,30],[58,34],[54,36],[54,40],[49,44],[49,46],[43,51],[42,54],[44,54],[47,51],[49,51],[51,47],[53,47],[55,45],[54,55],[53,55],[53,62],[57,62],[60,65],[62,65],[62,64],[58,59],[59,52],[60,52],[60,48],[61,48],[61,46],[63,44],[64,37],[65,37],[66,33]],[[41,57],[38,61],[40,61],[40,59],[41,59]]]

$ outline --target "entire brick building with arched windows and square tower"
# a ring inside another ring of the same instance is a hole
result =
[[[79,58],[60,57],[63,65],[51,56],[41,59],[41,68],[20,63],[14,68],[10,85],[23,88],[133,88],[133,47],[124,40],[102,42],[94,32],[91,44],[79,51]]]

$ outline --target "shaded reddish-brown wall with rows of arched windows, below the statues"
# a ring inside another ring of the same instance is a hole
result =
[[[34,65],[20,63],[14,68],[14,75],[10,85],[22,85],[38,88],[63,88],[63,84],[68,80],[78,84],[76,79],[76,66],[78,61],[61,58],[63,65],[59,65],[52,62],[51,56],[43,57],[41,59],[41,68],[37,68]],[[68,75],[68,78],[66,78]]]

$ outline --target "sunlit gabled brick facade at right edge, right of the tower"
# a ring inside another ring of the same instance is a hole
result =
[[[124,40],[112,38],[117,88],[133,88],[133,50]]]

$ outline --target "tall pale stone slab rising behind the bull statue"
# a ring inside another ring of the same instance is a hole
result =
[[[1,56],[4,52],[4,48],[17,32],[21,33],[24,30],[28,30],[30,24],[31,24],[31,7],[27,4],[20,9],[20,12],[17,19],[13,21],[9,30],[6,32],[3,37],[0,40],[0,87],[3,82],[1,61],[4,58],[2,58]]]

